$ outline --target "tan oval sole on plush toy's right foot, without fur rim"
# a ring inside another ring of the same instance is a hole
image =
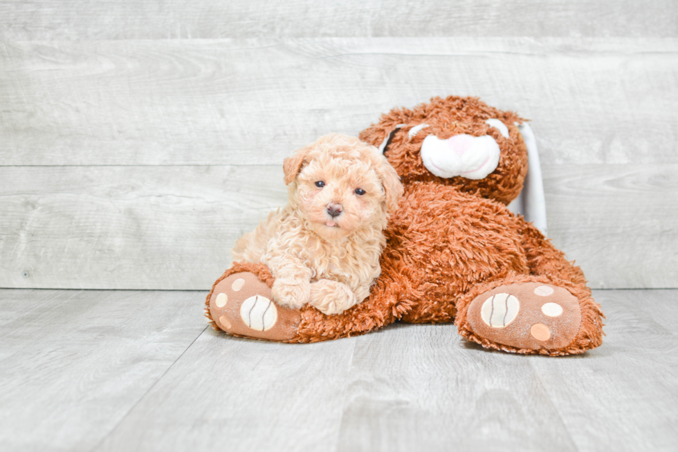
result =
[[[467,318],[482,339],[521,350],[554,350],[576,337],[581,309],[576,296],[564,288],[514,283],[477,296]]]

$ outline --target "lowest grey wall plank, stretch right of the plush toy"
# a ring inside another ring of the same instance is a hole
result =
[[[592,288],[678,287],[677,164],[542,167],[549,238]]]

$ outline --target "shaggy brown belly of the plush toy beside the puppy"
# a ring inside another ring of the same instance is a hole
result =
[[[392,218],[383,272],[412,270],[421,296],[405,315],[417,322],[452,321],[455,303],[474,285],[499,274],[529,274],[515,218],[504,205],[450,187],[410,191]],[[386,275],[385,275],[386,276]]]

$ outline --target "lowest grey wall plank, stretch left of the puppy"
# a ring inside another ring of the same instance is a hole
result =
[[[0,287],[208,289],[282,167],[0,167]],[[27,276],[24,272],[27,272]]]

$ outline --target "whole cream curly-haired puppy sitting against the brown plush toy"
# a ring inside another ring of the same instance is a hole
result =
[[[239,238],[233,260],[267,265],[280,305],[338,314],[367,298],[381,273],[383,230],[403,186],[376,147],[338,133],[283,167],[288,205]]]

